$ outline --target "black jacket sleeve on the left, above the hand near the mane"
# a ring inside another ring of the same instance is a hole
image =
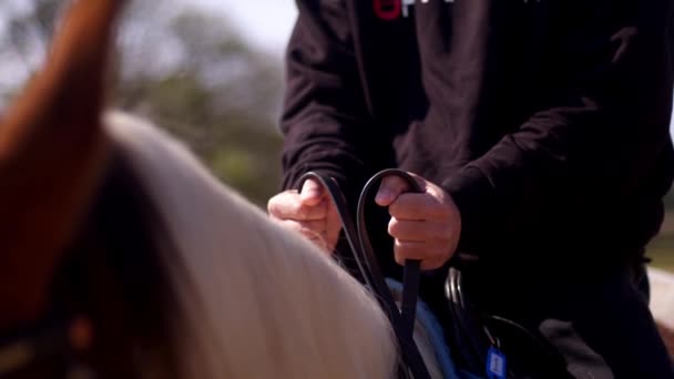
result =
[[[347,186],[355,191],[371,171],[368,147],[382,142],[370,130],[349,10],[336,0],[297,6],[286,51],[282,186],[294,187],[304,173],[318,171],[335,177],[345,192]]]

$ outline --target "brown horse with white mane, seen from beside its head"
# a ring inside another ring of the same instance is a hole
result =
[[[1,120],[0,378],[397,377],[371,293],[177,139],[108,106],[123,6],[73,1]]]

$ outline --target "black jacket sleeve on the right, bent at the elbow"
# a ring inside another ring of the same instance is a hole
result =
[[[482,244],[487,231],[534,239],[550,214],[575,214],[590,225],[584,217],[593,214],[620,217],[627,198],[660,201],[666,178],[660,192],[640,192],[672,171],[662,167],[671,144],[670,3],[576,2],[575,20],[554,45],[564,84],[544,109],[443,183],[462,214],[461,248]],[[563,235],[564,217],[545,227]]]

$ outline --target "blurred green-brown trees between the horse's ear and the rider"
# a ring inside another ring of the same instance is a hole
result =
[[[145,38],[126,35],[121,47],[119,106],[176,134],[218,177],[266,203],[278,185],[279,62],[246,47],[222,16],[188,9],[149,25],[143,13],[127,19],[135,29],[125,30],[142,27]]]

